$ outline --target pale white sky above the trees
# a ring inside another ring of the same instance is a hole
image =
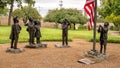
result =
[[[60,8],[60,0],[35,0],[35,8],[39,11],[39,13],[44,17],[49,10]],[[78,10],[83,10],[84,4],[86,0],[62,0],[63,8],[77,8]],[[100,5],[99,0],[98,6]]]

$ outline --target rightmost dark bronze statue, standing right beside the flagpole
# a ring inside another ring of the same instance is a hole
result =
[[[104,47],[104,54],[106,54],[108,26],[109,26],[109,23],[105,22],[104,26],[99,25],[99,28],[98,28],[98,32],[100,33],[100,53],[101,54],[102,54],[103,47]]]

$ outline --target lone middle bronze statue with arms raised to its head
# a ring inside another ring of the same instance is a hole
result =
[[[70,22],[67,19],[64,19],[62,22],[62,45],[68,46],[68,26],[70,25]]]

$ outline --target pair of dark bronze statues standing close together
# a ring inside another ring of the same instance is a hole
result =
[[[41,37],[41,22],[39,20],[33,20],[31,17],[28,17],[29,22],[27,20],[23,20],[25,26],[27,26],[27,32],[29,33],[29,45],[26,47],[41,47],[43,44],[40,42]],[[36,43],[35,43],[36,38]],[[37,46],[36,46],[37,45]]]

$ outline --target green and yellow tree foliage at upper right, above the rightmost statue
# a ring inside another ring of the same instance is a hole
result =
[[[99,14],[120,30],[120,0],[101,0]]]

